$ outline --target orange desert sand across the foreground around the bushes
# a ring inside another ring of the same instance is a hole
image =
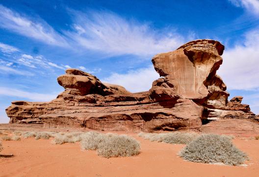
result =
[[[106,133],[106,132],[105,132]],[[258,177],[259,140],[235,138],[234,144],[246,152],[247,166],[225,166],[182,160],[177,153],[184,145],[144,140],[141,153],[132,157],[104,158],[96,151],[83,151],[79,143],[53,145],[52,140],[2,141],[1,177]]]

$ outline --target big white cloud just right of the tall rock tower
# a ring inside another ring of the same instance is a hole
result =
[[[259,32],[247,33],[245,42],[226,49],[218,74],[228,89],[259,89]]]

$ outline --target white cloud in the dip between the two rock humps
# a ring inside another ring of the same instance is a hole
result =
[[[154,66],[129,70],[126,74],[113,73],[111,76],[102,79],[104,83],[117,84],[125,87],[131,92],[147,91],[152,87],[153,81],[158,79],[159,75]]]

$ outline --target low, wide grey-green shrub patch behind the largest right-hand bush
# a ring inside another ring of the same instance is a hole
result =
[[[150,141],[165,142],[169,144],[187,144],[199,136],[198,133],[138,133],[138,136]]]

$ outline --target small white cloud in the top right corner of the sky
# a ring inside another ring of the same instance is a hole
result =
[[[259,0],[229,0],[237,7],[243,7],[249,12],[259,15]]]

